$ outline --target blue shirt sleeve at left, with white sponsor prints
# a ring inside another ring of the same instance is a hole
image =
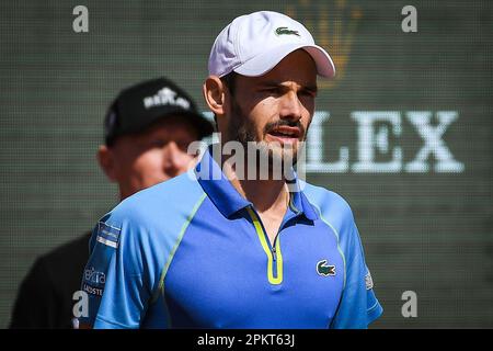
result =
[[[80,324],[95,329],[138,328],[150,290],[145,276],[138,233],[126,222],[102,218],[90,244],[81,290],[88,294],[88,315]]]

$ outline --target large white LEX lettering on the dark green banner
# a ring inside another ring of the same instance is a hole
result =
[[[298,160],[298,172],[307,173],[427,173],[432,169],[437,173],[460,173],[465,165],[455,159],[452,152],[443,140],[443,136],[459,114],[457,111],[437,111],[435,116],[438,121],[436,126],[432,125],[432,111],[409,111],[403,113],[405,118],[414,127],[417,135],[423,139],[423,146],[412,161],[404,163],[404,150],[395,145],[390,145],[390,138],[402,137],[402,113],[399,111],[355,111],[351,117],[356,122],[356,149],[357,160],[349,162],[349,147],[339,148],[339,159],[333,162],[325,161],[325,141],[329,136],[324,123],[329,121],[329,111],[318,111],[313,115],[306,143],[306,160],[303,152]],[[213,120],[210,112],[205,116]],[[204,141],[206,144],[218,143],[218,134]],[[431,156],[433,155],[434,158]],[[377,156],[389,156],[389,161],[376,161]],[[431,163],[435,163],[433,168]],[[306,161],[306,162],[302,162]],[[302,165],[303,163],[303,165]]]

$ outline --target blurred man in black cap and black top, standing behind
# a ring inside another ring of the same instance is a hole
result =
[[[165,78],[123,90],[104,122],[98,161],[119,200],[176,177],[195,165],[187,146],[213,133],[192,98]],[[174,201],[174,199],[170,199]],[[72,328],[73,294],[89,259],[91,233],[37,258],[22,282],[10,328]]]

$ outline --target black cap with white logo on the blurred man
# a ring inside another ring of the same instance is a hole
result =
[[[180,115],[196,127],[199,138],[214,132],[192,98],[167,78],[147,80],[119,92],[104,120],[104,140],[111,146],[118,136],[138,133],[158,120]]]

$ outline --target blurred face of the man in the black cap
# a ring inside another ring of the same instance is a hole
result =
[[[194,166],[186,149],[198,139],[183,116],[169,116],[144,132],[124,135],[108,148],[122,199],[176,177]]]

